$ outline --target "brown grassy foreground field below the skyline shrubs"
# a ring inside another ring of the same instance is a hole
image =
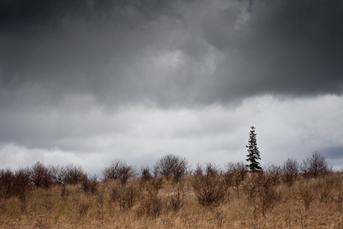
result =
[[[293,184],[276,175],[247,174],[239,186],[214,192],[220,201],[211,204],[208,195],[224,175],[202,175],[198,191],[196,176],[177,184],[164,178],[132,178],[125,185],[111,180],[87,192],[82,184],[34,188],[22,199],[1,198],[0,228],[343,228],[342,173]],[[201,197],[205,202],[199,204]]]

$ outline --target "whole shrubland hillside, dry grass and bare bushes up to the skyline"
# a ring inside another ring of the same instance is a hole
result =
[[[161,160],[139,172],[114,160],[103,178],[77,165],[0,169],[0,228],[343,228],[343,173],[320,155],[255,172],[189,173],[176,158],[170,173]]]

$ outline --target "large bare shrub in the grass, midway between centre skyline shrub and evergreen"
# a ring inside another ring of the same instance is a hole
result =
[[[199,204],[217,206],[228,195],[227,188],[222,171],[215,165],[211,163],[207,163],[204,167],[197,165],[194,171],[193,191]]]

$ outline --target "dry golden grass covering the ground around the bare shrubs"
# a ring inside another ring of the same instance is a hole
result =
[[[16,197],[0,200],[0,228],[343,228],[342,179],[341,173],[334,173],[325,178],[298,180],[290,187],[279,184],[281,200],[265,217],[256,202],[248,201],[243,189],[239,195],[230,189],[220,206],[200,206],[191,177],[185,179],[185,202],[176,212],[166,207],[175,185],[163,184],[158,193],[163,208],[156,218],[137,214],[140,200],[128,210],[120,210],[110,202],[110,187],[115,182],[99,184],[95,195],[84,193],[80,186],[67,186],[65,197],[61,197],[60,187],[54,186],[49,190],[35,189],[24,203]],[[141,186],[138,179],[130,182]],[[326,186],[329,197],[324,202]],[[309,189],[307,195],[313,195],[308,208],[301,195],[305,189]],[[141,195],[143,191],[139,192]]]

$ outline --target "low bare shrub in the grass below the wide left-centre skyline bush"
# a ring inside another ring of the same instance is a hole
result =
[[[120,210],[132,208],[137,201],[139,190],[134,184],[115,185],[111,190],[110,201],[119,205]]]

